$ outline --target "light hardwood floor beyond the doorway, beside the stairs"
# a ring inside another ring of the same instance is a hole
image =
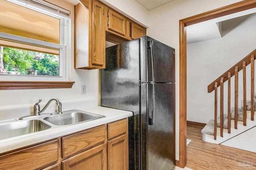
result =
[[[203,127],[187,124],[187,139],[192,141],[187,146],[186,167],[193,170],[256,170],[256,153],[204,142]]]

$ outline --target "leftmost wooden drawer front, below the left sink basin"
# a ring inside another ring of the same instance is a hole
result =
[[[0,156],[0,169],[31,170],[57,161],[58,139]]]

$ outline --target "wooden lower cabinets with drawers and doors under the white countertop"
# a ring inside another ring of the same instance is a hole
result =
[[[0,154],[0,170],[128,170],[128,119]]]

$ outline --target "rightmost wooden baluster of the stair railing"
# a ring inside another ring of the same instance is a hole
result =
[[[251,120],[254,120],[254,55],[251,55]]]

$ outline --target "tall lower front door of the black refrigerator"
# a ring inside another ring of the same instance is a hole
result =
[[[141,91],[141,169],[171,170],[175,166],[175,84],[144,83]]]

